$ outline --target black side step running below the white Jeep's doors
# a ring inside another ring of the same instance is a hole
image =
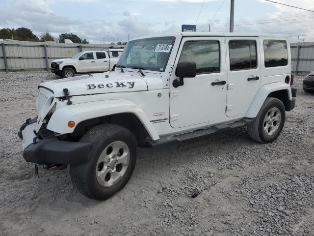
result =
[[[217,124],[207,129],[199,129],[199,130],[195,130],[195,131],[184,133],[184,134],[164,136],[156,141],[148,140],[147,143],[151,148],[157,148],[163,145],[172,145],[172,144],[180,143],[183,141],[194,140],[201,137],[206,137],[211,134],[217,134],[217,133],[235,129],[241,126],[245,126],[245,125],[248,125],[253,120],[254,118],[252,119],[245,118],[245,119],[235,121],[230,124]]]

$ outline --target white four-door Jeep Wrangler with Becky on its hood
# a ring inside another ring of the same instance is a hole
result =
[[[132,40],[114,72],[38,86],[20,129],[24,158],[70,165],[76,188],[106,199],[131,177],[137,146],[156,148],[247,126],[273,142],[294,108],[287,37],[183,32]],[[37,167],[38,168],[38,167]]]

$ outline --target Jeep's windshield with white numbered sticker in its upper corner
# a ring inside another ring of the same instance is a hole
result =
[[[130,41],[117,66],[164,71],[175,39],[175,37],[157,37]]]

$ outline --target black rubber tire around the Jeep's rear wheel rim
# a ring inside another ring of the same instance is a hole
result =
[[[281,120],[280,120],[280,124],[278,125],[277,130],[270,136],[267,136],[264,133],[264,118],[266,116],[266,113],[271,109],[271,108],[278,108],[280,111],[280,115],[281,115]],[[258,113],[257,117],[255,118],[255,120],[250,123],[247,126],[247,130],[248,130],[248,134],[250,136],[251,139],[262,143],[262,144],[266,144],[266,143],[271,143],[273,141],[275,141],[278,136],[280,135],[284,124],[285,124],[285,119],[286,119],[286,111],[285,111],[285,106],[283,104],[283,102],[277,98],[274,97],[267,97],[266,100],[264,101],[260,112]]]

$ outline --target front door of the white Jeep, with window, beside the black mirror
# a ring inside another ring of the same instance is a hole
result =
[[[174,88],[179,62],[196,62],[196,77],[184,78]],[[170,78],[170,125],[206,126],[224,114],[226,104],[226,64],[224,37],[183,38]],[[218,82],[218,83],[217,83]]]

